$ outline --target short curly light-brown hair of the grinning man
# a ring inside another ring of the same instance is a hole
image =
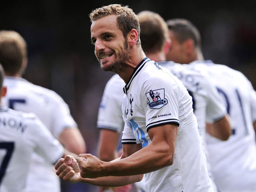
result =
[[[140,24],[138,16],[128,8],[128,6],[122,6],[120,4],[110,4],[93,10],[89,17],[91,22],[100,19],[104,16],[116,15],[118,28],[122,31],[124,37],[132,30],[135,29],[138,32],[137,44],[140,44]]]

